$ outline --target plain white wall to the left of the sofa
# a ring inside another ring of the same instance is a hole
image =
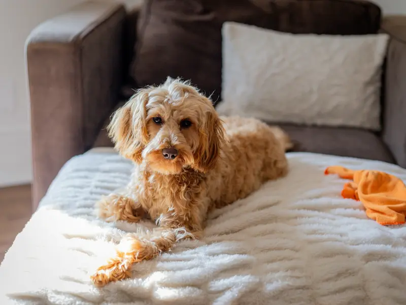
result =
[[[0,186],[31,180],[24,43],[31,29],[82,0],[0,0]]]

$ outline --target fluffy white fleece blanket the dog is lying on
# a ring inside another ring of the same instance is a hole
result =
[[[367,219],[324,168],[406,170],[382,162],[290,153],[289,175],[209,215],[205,237],[95,288],[89,275],[137,225],[93,216],[131,164],[111,150],[68,162],[0,267],[0,304],[406,304],[406,226]],[[139,225],[142,226],[142,225]],[[149,224],[151,226],[151,224]]]

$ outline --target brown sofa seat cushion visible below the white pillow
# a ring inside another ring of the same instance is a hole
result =
[[[292,139],[292,151],[354,157],[395,163],[384,142],[373,132],[355,128],[280,125]]]

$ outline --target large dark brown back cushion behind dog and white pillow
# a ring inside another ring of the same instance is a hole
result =
[[[360,0],[146,0],[138,19],[131,74],[139,86],[183,77],[221,94],[224,21],[290,33],[373,34],[381,10]]]

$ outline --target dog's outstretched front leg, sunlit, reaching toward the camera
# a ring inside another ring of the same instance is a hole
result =
[[[106,265],[99,267],[91,276],[93,284],[103,287],[110,282],[129,278],[132,264],[152,259],[170,250],[181,239],[194,238],[193,234],[184,228],[158,229],[155,233],[157,232],[160,232],[157,237],[150,238],[140,238],[135,233],[127,234],[121,240],[116,256]]]

